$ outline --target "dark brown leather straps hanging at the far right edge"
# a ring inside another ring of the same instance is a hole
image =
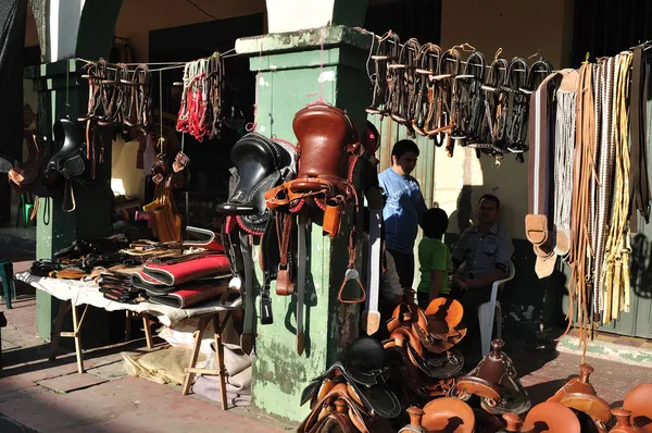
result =
[[[648,62],[643,53],[643,47],[634,49],[631,70],[631,147],[629,159],[631,171],[629,172],[629,197],[630,197],[630,226],[637,232],[637,211],[650,222],[650,181],[648,177],[648,156],[645,153],[645,132],[648,131]]]

